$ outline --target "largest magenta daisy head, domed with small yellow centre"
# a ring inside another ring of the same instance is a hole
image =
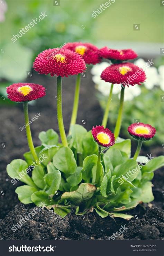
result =
[[[85,71],[85,62],[78,53],[73,51],[54,48],[38,54],[33,68],[39,74],[51,74],[51,76],[68,77]]]

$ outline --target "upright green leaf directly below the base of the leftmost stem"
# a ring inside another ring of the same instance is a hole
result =
[[[45,187],[45,182],[44,182],[44,175],[45,175],[45,171],[43,169],[43,167],[41,165],[36,166],[33,169],[32,172],[32,179],[34,181],[34,183],[39,187],[39,188],[44,188]]]

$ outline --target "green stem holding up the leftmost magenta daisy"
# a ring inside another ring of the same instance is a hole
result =
[[[29,145],[29,149],[31,151],[31,154],[34,157],[34,160],[39,163],[39,159],[36,155],[36,151],[34,148],[34,144],[33,144],[33,139],[31,136],[31,130],[30,130],[30,124],[29,124],[29,118],[28,118],[28,101],[25,101],[23,103],[24,106],[24,116],[25,116],[25,125],[26,125],[26,134],[27,134],[27,140],[28,140],[28,145]]]

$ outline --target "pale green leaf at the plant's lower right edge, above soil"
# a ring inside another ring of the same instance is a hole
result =
[[[142,201],[143,203],[149,203],[154,200],[151,182],[148,181],[142,184],[141,189],[142,189],[142,195],[139,197],[140,201]]]

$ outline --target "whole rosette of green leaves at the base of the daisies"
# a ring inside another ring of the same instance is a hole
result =
[[[138,159],[145,164],[141,165],[130,159],[130,140],[118,141],[101,152],[100,179],[96,183],[97,143],[91,132],[80,125],[73,125],[71,132],[70,148],[57,144],[58,136],[52,129],[39,134],[43,144],[36,151],[38,156],[44,154],[45,159],[31,170],[31,178],[28,166],[34,160],[29,152],[24,154],[26,161],[13,160],[7,166],[11,178],[27,184],[16,189],[22,203],[53,208],[62,218],[74,208],[76,214],[94,209],[102,218],[128,220],[133,216],[122,211],[154,199],[151,180],[154,171],[164,166],[163,156],[152,160],[142,156]]]

